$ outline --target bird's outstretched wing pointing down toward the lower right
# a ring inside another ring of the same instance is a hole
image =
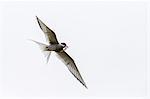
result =
[[[87,88],[74,60],[65,51],[56,53],[58,58],[60,58],[60,60],[68,67],[69,71],[74,75],[74,77],[77,78],[77,80],[79,80],[80,83],[82,83]]]

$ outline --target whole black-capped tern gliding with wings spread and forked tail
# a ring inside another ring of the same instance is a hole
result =
[[[37,16],[36,16],[37,22],[41,28],[41,30],[44,32],[45,37],[49,45],[34,41],[37,43],[44,53],[47,62],[49,60],[49,57],[51,55],[51,52],[55,52],[58,58],[67,66],[68,70],[73,74],[73,76],[80,81],[80,83],[87,88],[83,78],[81,77],[81,74],[76,67],[76,64],[74,60],[65,52],[65,50],[68,48],[66,43],[59,43],[56,37],[56,34],[48,28]]]

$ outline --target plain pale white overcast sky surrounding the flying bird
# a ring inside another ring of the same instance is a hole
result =
[[[146,93],[146,4],[13,2],[1,4],[0,96],[130,97]],[[52,53],[35,16],[69,46],[88,90]]]

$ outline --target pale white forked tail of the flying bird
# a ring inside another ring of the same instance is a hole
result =
[[[34,41],[34,40],[31,40],[31,41],[33,41],[33,42],[35,42],[35,43],[37,43],[37,44],[39,45],[39,47],[40,47],[42,53],[43,53],[44,56],[46,57],[46,62],[48,63],[49,58],[50,58],[50,55],[51,55],[51,51],[48,51],[48,50],[46,49],[46,47],[48,47],[48,45],[43,44],[43,43],[40,43],[40,42],[37,42],[37,41]]]

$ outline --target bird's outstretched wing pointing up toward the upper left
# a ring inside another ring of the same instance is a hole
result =
[[[42,31],[45,34],[46,40],[50,44],[58,44],[55,33],[51,29],[49,29],[37,16],[36,16],[36,18],[37,18],[40,28],[42,29]]]

